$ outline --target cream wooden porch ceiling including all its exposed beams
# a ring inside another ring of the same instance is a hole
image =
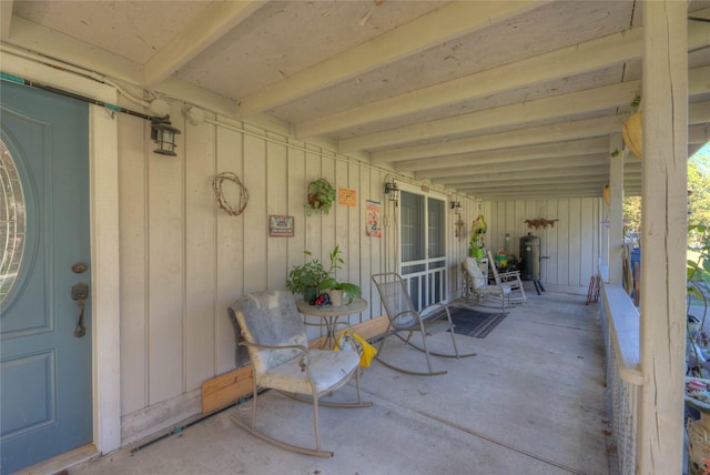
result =
[[[641,91],[642,2],[2,1],[3,48],[189,98],[481,199],[600,196]],[[689,154],[710,1],[689,2]]]

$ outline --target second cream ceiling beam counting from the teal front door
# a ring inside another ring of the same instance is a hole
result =
[[[452,2],[237,101],[245,118],[524,14],[549,1]]]

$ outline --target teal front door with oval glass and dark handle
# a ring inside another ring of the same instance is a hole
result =
[[[0,108],[0,472],[9,474],[93,438],[89,107],[3,81]]]

